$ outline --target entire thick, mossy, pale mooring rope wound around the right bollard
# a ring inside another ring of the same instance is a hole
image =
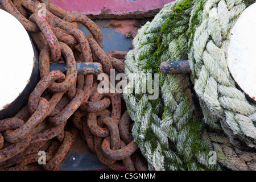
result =
[[[242,147],[243,142],[254,147],[255,107],[236,89],[225,62],[228,32],[246,5],[241,1],[175,1],[138,31],[135,48],[126,58],[126,75],[159,73],[161,62],[189,55],[192,81],[204,121],[210,126],[204,130],[203,142],[200,135],[204,122],[196,114],[188,75],[160,73],[158,100],[148,100],[149,94],[129,94],[129,89],[144,86],[141,75],[137,75],[126,87],[124,98],[135,121],[134,139],[150,169],[219,169],[209,164],[209,150],[216,151],[218,162],[225,167],[255,169],[255,151]],[[217,98],[213,97],[216,94]],[[233,104],[229,104],[232,99]],[[236,109],[241,104],[244,107]],[[240,127],[234,128],[234,123]]]

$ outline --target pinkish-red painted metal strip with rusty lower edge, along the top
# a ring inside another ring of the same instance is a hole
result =
[[[91,19],[146,18],[156,15],[167,3],[174,0],[52,0],[67,11],[79,11]]]

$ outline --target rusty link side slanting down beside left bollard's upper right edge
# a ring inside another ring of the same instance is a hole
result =
[[[57,40],[55,34],[53,34],[46,18],[43,16],[40,17],[38,13],[34,13],[30,16],[29,20],[38,24],[40,30],[42,31],[48,46],[51,49],[51,61],[58,61],[61,56],[59,41]]]

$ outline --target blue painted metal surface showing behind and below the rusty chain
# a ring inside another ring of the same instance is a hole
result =
[[[121,32],[115,31],[115,28],[107,27],[110,20],[94,20],[101,28],[102,34],[105,35],[102,46],[105,52],[110,51],[130,51],[133,48],[131,39],[128,39]],[[90,32],[85,27],[79,26],[79,29],[85,35],[90,35]],[[60,165],[60,170],[63,171],[92,171],[92,170],[109,170],[102,164],[95,153],[90,151],[84,140],[79,138],[69,150],[66,158]]]

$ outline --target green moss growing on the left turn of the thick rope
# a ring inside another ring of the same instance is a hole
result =
[[[166,19],[166,22],[163,24],[162,27],[159,28],[159,32],[155,33],[154,32],[154,37],[150,38],[150,40],[148,39],[146,43],[144,43],[145,46],[147,44],[150,44],[147,46],[150,47],[149,51],[147,52],[140,52],[139,55],[139,68],[143,69],[143,71],[150,71],[151,73],[160,73],[160,64],[162,63],[162,61],[166,61],[166,60],[161,60],[161,57],[164,57],[164,59],[168,59],[168,57],[166,55],[166,52],[169,50],[169,40],[176,40],[176,42],[179,44],[184,44],[184,41],[180,41],[180,37],[184,37],[185,39],[189,39],[191,34],[195,34],[196,31],[196,27],[199,26],[200,19],[199,19],[199,15],[200,15],[200,11],[203,10],[203,5],[205,0],[199,0],[200,1],[200,9],[197,10],[197,12],[193,13],[193,17],[192,17],[192,28],[191,30],[189,29],[189,17],[191,14],[191,9],[192,6],[195,2],[195,0],[184,0],[180,3],[177,4],[176,7],[174,7],[174,9],[172,11],[170,11],[170,15],[168,16],[168,18]],[[181,28],[180,28],[181,27]],[[144,32],[144,35],[147,35],[147,32]],[[156,35],[157,34],[157,35]],[[181,36],[182,34],[182,36]],[[167,36],[168,35],[168,36]],[[149,36],[148,36],[149,37]],[[166,41],[167,40],[167,41]],[[182,39],[184,40],[184,39]],[[172,45],[172,44],[171,44]],[[141,46],[141,45],[140,45]],[[179,47],[179,46],[178,46]],[[143,50],[143,49],[141,49]],[[187,55],[187,50],[186,49],[181,49],[181,51],[179,53],[177,53],[178,56],[184,56]],[[178,57],[177,56],[177,57]],[[172,57],[170,57],[170,59],[172,59]],[[146,60],[146,61],[145,61]],[[146,63],[146,64],[145,64]],[[167,76],[166,75],[162,75],[160,74],[159,76],[159,84],[162,87],[163,85],[163,80],[166,80]],[[173,78],[173,82],[172,85],[180,85],[179,80],[176,78]],[[161,92],[161,90],[159,90],[159,92]],[[164,156],[164,150],[172,150],[172,152],[175,153],[175,155],[177,156],[177,158],[179,159],[184,159],[184,163],[182,168],[183,169],[191,169],[192,165],[195,165],[197,167],[203,168],[203,169],[208,169],[207,166],[204,166],[203,164],[201,165],[198,162],[198,156],[200,153],[207,155],[209,153],[209,150],[207,148],[207,146],[205,146],[205,144],[202,142],[202,140],[200,139],[200,134],[204,129],[204,123],[202,121],[200,121],[198,118],[195,118],[194,116],[191,115],[191,113],[193,112],[192,110],[192,106],[191,106],[191,96],[188,96],[185,93],[183,93],[183,90],[181,89],[180,86],[177,86],[177,89],[174,88],[170,90],[170,92],[172,92],[172,94],[175,96],[175,100],[177,102],[183,102],[183,104],[180,104],[179,106],[179,111],[175,112],[174,109],[171,109],[168,106],[162,105],[161,107],[161,112],[159,111],[155,111],[158,107],[159,104],[161,102],[163,102],[163,98],[162,98],[162,93],[159,93],[159,98],[158,100],[149,100],[147,102],[147,105],[142,105],[142,109],[140,110],[141,113],[139,113],[139,118],[143,118],[146,111],[149,109],[149,107],[152,107],[152,111],[151,113],[154,113],[156,115],[159,116],[160,119],[163,119],[165,117],[168,117],[168,115],[165,114],[170,114],[170,115],[174,115],[175,117],[177,116],[182,116],[183,114],[186,113],[185,117],[183,118],[183,120],[181,120],[181,122],[179,123],[179,119],[174,118],[174,122],[171,123],[171,127],[173,127],[174,129],[176,129],[176,131],[179,133],[181,130],[184,129],[188,129],[186,132],[188,133],[188,135],[192,138],[192,143],[190,141],[190,139],[187,139],[187,146],[184,146],[185,148],[189,147],[191,148],[191,153],[189,153],[189,155],[185,152],[187,151],[183,151],[182,149],[177,150],[177,143],[176,143],[176,139],[172,139],[171,137],[168,138],[168,146],[161,146],[159,148],[162,148],[160,150],[160,153],[162,153],[162,155]],[[135,94],[135,98],[137,101],[141,100],[143,94]],[[143,102],[144,104],[144,102]],[[155,109],[155,110],[154,110]],[[136,111],[135,111],[136,112]],[[149,123],[148,123],[149,122]],[[152,123],[155,123],[154,121],[154,117],[151,114],[150,118],[147,118],[147,124],[149,126],[151,126]],[[184,124],[184,125],[183,125]],[[178,126],[179,125],[179,126]],[[137,129],[139,129],[141,127],[141,125],[138,125]],[[185,130],[183,130],[185,131]],[[182,133],[179,133],[182,134]],[[146,129],[146,131],[143,130],[142,135],[144,136],[143,140],[139,137],[135,138],[135,141],[139,144],[139,146],[144,146],[144,142],[147,141],[150,143],[151,146],[151,152],[154,152],[156,150],[156,148],[158,147],[157,143],[160,142],[156,142],[156,140],[158,140],[158,138],[156,138],[156,135],[154,133],[154,131],[152,131],[151,127],[148,127]],[[187,134],[186,134],[187,135]],[[186,144],[186,143],[184,143]],[[163,144],[164,145],[164,144]],[[167,147],[167,148],[166,148]],[[144,148],[145,149],[145,148]],[[190,156],[191,154],[191,156]],[[185,159],[187,158],[187,159]],[[205,159],[205,158],[204,158]],[[169,162],[165,162],[164,165],[166,165],[166,167],[168,166],[168,164],[171,164]],[[213,169],[213,167],[210,167],[211,169]],[[217,166],[216,166],[217,168]]]

